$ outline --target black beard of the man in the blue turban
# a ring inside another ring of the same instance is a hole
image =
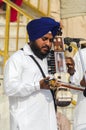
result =
[[[49,47],[46,46],[48,48],[48,51],[45,54],[42,53],[35,41],[30,43],[30,47],[31,47],[33,53],[40,59],[44,59],[48,55],[48,53],[50,52]]]

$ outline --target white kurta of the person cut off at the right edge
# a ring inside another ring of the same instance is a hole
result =
[[[85,65],[86,70],[86,48],[81,50],[82,58]],[[79,53],[77,53],[74,57],[75,60],[75,67],[76,73],[72,77],[71,81],[75,84],[79,84],[82,77],[82,64],[80,61]],[[75,107],[75,114],[74,114],[74,130],[86,130],[86,97],[84,97],[82,91],[78,91],[78,101]]]

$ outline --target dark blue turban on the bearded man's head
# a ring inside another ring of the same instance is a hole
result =
[[[27,33],[30,41],[41,38],[49,31],[52,32],[53,37],[57,34],[60,23],[49,17],[42,17],[34,19],[27,24]]]

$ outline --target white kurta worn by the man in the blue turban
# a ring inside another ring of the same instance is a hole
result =
[[[53,98],[50,90],[40,89],[42,74],[29,55],[28,44],[14,53],[5,65],[4,89],[9,96],[10,130],[57,130]],[[46,59],[35,56],[47,75]]]

